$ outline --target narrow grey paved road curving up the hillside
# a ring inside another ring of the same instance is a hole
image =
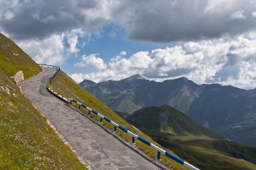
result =
[[[43,69],[22,84],[22,91],[92,169],[160,169],[51,95],[45,87],[56,70]]]

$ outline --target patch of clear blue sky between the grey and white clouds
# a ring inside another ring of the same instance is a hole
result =
[[[114,35],[113,35],[114,34]],[[81,38],[79,42],[86,42],[86,38]],[[170,43],[169,43],[170,44]],[[165,48],[168,43],[154,43],[154,42],[137,42],[127,38],[125,30],[117,28],[117,26],[107,26],[104,28],[100,37],[93,36],[92,40],[86,44],[86,46],[79,47],[79,52],[75,54],[77,57],[69,58],[61,68],[65,70],[69,75],[73,73],[90,73],[94,71],[94,68],[77,68],[73,67],[77,62],[79,56],[84,54],[99,54],[100,58],[104,61],[109,62],[110,58],[117,56],[121,51],[125,51],[127,54],[124,57],[129,57],[136,52],[141,50],[154,50],[156,48]],[[67,44],[68,46],[68,44]],[[79,45],[78,45],[79,46]]]

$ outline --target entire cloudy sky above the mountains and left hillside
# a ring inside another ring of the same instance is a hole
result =
[[[256,87],[256,0],[0,0],[0,32],[77,83]]]

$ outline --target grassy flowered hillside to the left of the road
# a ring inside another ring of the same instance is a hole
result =
[[[29,78],[42,69],[0,34],[0,85],[17,95],[0,89],[0,169],[86,169],[10,78],[20,70]]]

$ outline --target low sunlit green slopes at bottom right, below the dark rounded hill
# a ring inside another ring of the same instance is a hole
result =
[[[143,132],[201,169],[256,169],[255,164],[245,161],[255,163],[254,146],[198,136],[174,136],[152,130]]]

